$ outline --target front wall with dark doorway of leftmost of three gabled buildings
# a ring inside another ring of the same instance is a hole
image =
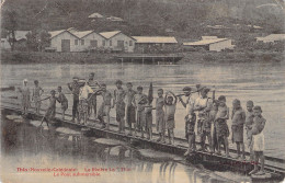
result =
[[[68,32],[64,32],[50,41],[50,47],[56,48],[57,52],[61,52],[61,39],[69,39],[70,41],[70,52],[79,52],[80,50],[80,41],[78,37],[73,36]],[[78,45],[76,45],[76,39],[78,39]]]

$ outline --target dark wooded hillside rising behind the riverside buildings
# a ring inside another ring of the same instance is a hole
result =
[[[284,10],[273,0],[7,0],[2,7],[2,30],[9,26],[8,12],[16,20],[16,30],[122,30],[129,35],[167,35],[166,28],[181,38],[197,38],[208,33],[206,25],[231,27],[259,25],[264,33],[284,30]],[[281,2],[283,3],[283,2]],[[263,4],[263,5],[262,5]],[[265,5],[264,5],[265,4]],[[273,5],[272,5],[273,4]],[[274,5],[275,4],[275,5]],[[91,22],[99,12],[118,16],[125,23]],[[235,28],[233,28],[235,30]],[[4,32],[3,32],[4,33]],[[220,33],[223,34],[223,33]]]

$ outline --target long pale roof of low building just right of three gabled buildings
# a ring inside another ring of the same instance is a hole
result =
[[[133,36],[136,43],[178,43],[175,37],[167,36]]]

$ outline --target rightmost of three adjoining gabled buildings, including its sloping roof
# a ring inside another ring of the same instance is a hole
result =
[[[104,47],[111,48],[113,52],[133,53],[136,39],[123,34],[121,31],[111,31],[100,33],[106,38]]]

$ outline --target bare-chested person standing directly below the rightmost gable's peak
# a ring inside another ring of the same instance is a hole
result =
[[[116,121],[118,123],[118,133],[125,133],[125,107],[124,102],[126,92],[122,88],[123,82],[116,80],[116,89],[114,90],[114,105],[116,105]]]

